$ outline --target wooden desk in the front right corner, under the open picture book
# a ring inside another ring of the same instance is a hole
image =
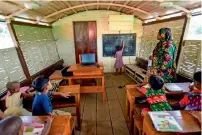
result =
[[[159,132],[148,114],[144,117],[143,135],[201,135],[201,124],[188,111],[168,111],[182,127],[182,132]]]

